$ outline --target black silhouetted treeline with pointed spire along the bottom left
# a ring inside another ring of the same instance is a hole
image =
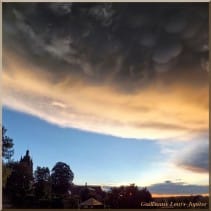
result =
[[[137,186],[121,186],[105,192],[101,187],[73,184],[74,173],[68,164],[57,162],[51,169],[38,166],[26,152],[13,161],[13,140],[2,127],[3,208],[79,208],[89,198],[102,202],[104,208],[140,208],[141,201],[152,201],[150,192]]]

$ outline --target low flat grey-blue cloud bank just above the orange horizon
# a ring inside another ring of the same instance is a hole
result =
[[[207,194],[208,185],[189,185],[183,182],[165,181],[148,187],[152,193],[157,194]]]

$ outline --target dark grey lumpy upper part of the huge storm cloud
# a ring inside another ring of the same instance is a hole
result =
[[[163,73],[192,75],[187,83],[197,84],[208,71],[208,6],[4,3],[3,48],[44,67],[55,82],[76,75],[134,90]]]

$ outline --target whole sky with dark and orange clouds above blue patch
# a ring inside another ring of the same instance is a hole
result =
[[[75,184],[208,193],[207,3],[3,3],[14,159]]]

